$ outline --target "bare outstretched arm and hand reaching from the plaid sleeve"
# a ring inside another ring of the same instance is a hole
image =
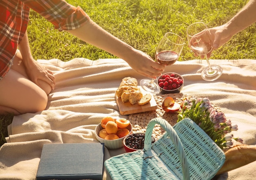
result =
[[[134,49],[115,36],[112,36],[92,20],[85,23],[82,27],[69,30],[68,32],[85,42],[125,60],[132,69],[143,76],[156,78],[164,71],[164,65],[155,62],[146,53]]]

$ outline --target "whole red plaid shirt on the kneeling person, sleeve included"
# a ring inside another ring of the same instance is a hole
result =
[[[65,0],[0,0],[0,80],[8,73],[27,30],[30,8],[59,30],[79,28],[90,19]]]

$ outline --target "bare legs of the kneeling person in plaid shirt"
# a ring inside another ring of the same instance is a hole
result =
[[[7,75],[0,80],[0,114],[35,113],[43,111],[47,105],[49,84],[40,87],[27,78],[21,56],[18,54]]]

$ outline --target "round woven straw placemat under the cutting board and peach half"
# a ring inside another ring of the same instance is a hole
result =
[[[166,113],[162,109],[162,102],[166,97],[172,97],[175,102],[182,104],[183,100],[186,98],[187,100],[191,100],[191,98],[196,98],[196,96],[184,95],[183,93],[170,93],[170,94],[157,94],[154,95],[155,101],[157,103],[157,109],[154,111],[147,111],[142,113],[130,114],[128,116],[128,120],[132,124],[132,131],[136,132],[146,132],[146,127],[148,122],[153,118],[163,118],[167,120],[171,126],[177,123],[178,112],[176,113]],[[213,104],[212,104],[213,105]],[[214,105],[217,111],[220,109]],[[160,127],[159,124],[155,124],[152,135],[158,140],[165,133],[164,129]]]

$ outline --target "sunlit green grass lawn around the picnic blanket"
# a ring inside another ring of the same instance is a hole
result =
[[[186,40],[186,27],[203,21],[209,27],[224,24],[246,3],[245,0],[67,0],[80,6],[103,29],[133,47],[154,57],[155,47],[170,31]],[[86,32],[85,32],[86,33]],[[82,42],[69,33],[55,30],[36,12],[31,11],[28,35],[32,55],[37,59],[58,58],[63,61],[83,57],[92,60],[117,58]],[[187,44],[187,43],[186,43]],[[235,35],[213,52],[212,59],[255,59],[256,24]],[[185,46],[180,61],[195,59]],[[0,116],[0,146],[5,142],[12,116]]]

